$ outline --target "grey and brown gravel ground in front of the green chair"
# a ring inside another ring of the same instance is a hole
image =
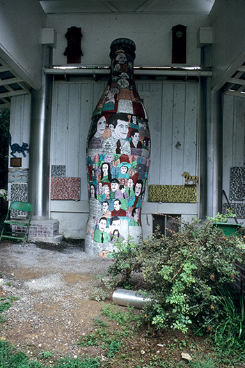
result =
[[[100,314],[101,303],[89,296],[113,261],[88,256],[83,242],[22,247],[6,241],[0,251],[1,295],[19,298],[3,313],[0,339],[33,356],[41,351],[55,351],[55,358],[93,353],[93,346],[83,348],[77,340]]]

